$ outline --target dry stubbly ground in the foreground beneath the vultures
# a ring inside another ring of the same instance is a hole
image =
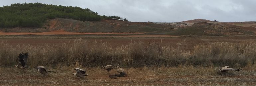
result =
[[[218,74],[212,67],[159,67],[124,68],[127,77],[110,79],[110,73],[101,68],[82,68],[89,76],[79,78],[72,75],[73,67],[48,68],[54,70],[44,76],[35,69],[22,71],[17,68],[0,67],[0,85],[256,85],[256,72],[244,68]],[[15,70],[15,71],[14,71]]]

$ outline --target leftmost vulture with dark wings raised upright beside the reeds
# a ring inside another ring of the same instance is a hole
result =
[[[25,52],[25,53],[20,53],[18,58],[16,59],[17,65],[14,65],[15,67],[18,68],[28,68],[27,66],[27,59],[28,59],[29,53]],[[22,65],[22,67],[19,67],[20,64]]]

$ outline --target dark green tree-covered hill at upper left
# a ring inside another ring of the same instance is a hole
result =
[[[42,3],[17,3],[0,7],[0,27],[42,27],[47,19],[70,18],[81,21],[123,19],[119,16],[101,16],[90,9],[80,7],[48,5]]]

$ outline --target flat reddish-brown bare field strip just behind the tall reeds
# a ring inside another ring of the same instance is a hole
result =
[[[131,35],[127,37],[144,37],[145,35]],[[157,35],[146,35],[145,37],[158,37]],[[126,36],[118,36],[118,37],[126,37]],[[159,37],[174,37],[174,36],[159,36]],[[45,45],[45,44],[54,44],[60,45],[61,43],[73,42],[76,39],[38,39],[38,38],[14,38],[14,39],[6,39],[2,38],[0,41],[7,41],[13,46],[19,45]],[[98,43],[111,43],[112,47],[117,47],[121,45],[128,45],[129,43],[143,41],[145,44],[148,42],[158,42],[161,43],[162,46],[171,46],[171,47],[180,47],[184,50],[191,50],[195,45],[198,44],[209,44],[213,42],[229,42],[229,43],[240,43],[245,41],[256,41],[256,37],[186,37],[186,38],[97,38],[97,39],[81,39],[87,40],[90,43],[98,42]]]

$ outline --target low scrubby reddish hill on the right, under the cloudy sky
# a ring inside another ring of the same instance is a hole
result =
[[[156,33],[152,33],[156,34]],[[209,36],[223,36],[223,35],[253,35],[252,31],[243,30],[238,26],[220,23],[206,23],[199,22],[192,26],[182,27],[170,31],[159,32],[158,34],[169,34],[169,35],[209,35]]]

